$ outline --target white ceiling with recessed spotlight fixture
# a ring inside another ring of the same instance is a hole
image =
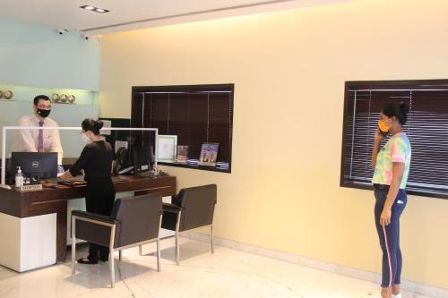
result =
[[[353,0],[0,0],[0,19],[89,35]],[[110,13],[79,8],[93,5]]]

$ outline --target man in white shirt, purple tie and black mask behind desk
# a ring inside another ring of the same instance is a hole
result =
[[[34,98],[34,113],[19,119],[20,126],[58,127],[56,121],[47,116],[51,101],[46,95]],[[59,130],[22,129],[15,133],[13,152],[57,152],[57,165],[62,165],[63,150]]]

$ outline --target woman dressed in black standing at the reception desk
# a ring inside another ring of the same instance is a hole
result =
[[[99,130],[103,127],[101,121],[87,118],[82,121],[82,140],[87,145],[82,150],[80,158],[63,175],[66,179],[79,175],[84,170],[84,180],[87,183],[85,201],[88,212],[110,216],[115,200],[115,188],[111,179],[113,159],[112,146],[101,140]],[[108,260],[108,247],[89,243],[89,255],[78,260],[82,264],[97,264],[98,260]]]

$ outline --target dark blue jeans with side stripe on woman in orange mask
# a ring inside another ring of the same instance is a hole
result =
[[[380,225],[380,216],[389,192],[388,185],[375,185],[375,226],[383,251],[383,278],[381,286],[388,287],[401,283],[400,216],[406,207],[408,197],[400,190],[392,205],[391,224]]]

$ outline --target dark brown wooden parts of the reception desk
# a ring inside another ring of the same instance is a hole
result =
[[[124,179],[114,179],[114,185],[116,192],[136,192],[136,194],[159,192],[162,196],[171,196],[176,193],[176,177],[173,176],[155,178],[126,176]],[[85,185],[58,185],[57,188],[44,188],[42,191],[35,192],[0,189],[0,212],[9,219],[56,215],[56,260],[64,261],[67,200],[83,198],[84,192]],[[51,217],[44,219],[46,223],[51,222]],[[0,239],[1,243],[7,241],[7,239]]]

